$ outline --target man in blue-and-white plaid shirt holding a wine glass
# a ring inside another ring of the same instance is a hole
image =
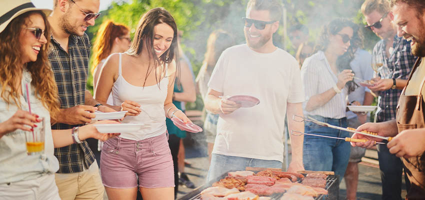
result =
[[[410,42],[397,36],[397,27],[386,0],[366,0],[361,11],[368,28],[381,38],[373,48],[372,58],[382,66],[375,70],[374,86],[368,88],[378,96],[376,122],[395,119],[396,106],[401,90],[414,62]],[[379,64],[379,65],[380,65]],[[373,65],[373,61],[372,61]],[[379,66],[378,65],[378,66]],[[401,159],[389,153],[386,144],[378,144],[379,169],[382,180],[382,199],[401,199]],[[406,179],[408,185],[408,180]]]

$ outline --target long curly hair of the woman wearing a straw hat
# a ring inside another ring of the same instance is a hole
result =
[[[31,23],[28,17],[32,14],[40,14],[43,17],[44,36],[47,43],[41,46],[37,60],[22,65],[20,62],[22,50],[18,35],[28,23]],[[22,69],[25,68],[31,73],[31,86],[35,88],[35,95],[50,112],[51,120],[54,122],[59,111],[59,98],[53,71],[47,59],[49,42],[50,25],[42,11],[28,11],[10,21],[0,33],[0,96],[8,104],[16,104],[17,107],[21,108],[18,93],[20,88],[15,87],[15,82],[16,77],[20,77],[19,74],[22,74]]]

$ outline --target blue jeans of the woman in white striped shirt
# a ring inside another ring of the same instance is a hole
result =
[[[331,125],[347,127],[347,119],[345,117],[340,119],[318,115],[311,117]],[[332,137],[349,137],[347,131],[317,125],[310,121],[304,121],[304,132]],[[342,139],[304,134],[303,144],[302,161],[305,170],[334,171],[335,175],[339,175],[339,181],[341,181],[348,164],[351,146],[349,142]]]

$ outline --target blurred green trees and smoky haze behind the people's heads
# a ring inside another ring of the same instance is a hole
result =
[[[96,19],[96,24],[88,28],[87,34],[93,42],[99,25],[106,19],[126,24],[133,36],[137,23],[147,10],[164,7],[174,17],[178,29],[183,31],[181,45],[189,58],[196,75],[202,65],[208,35],[215,29],[223,29],[233,34],[236,43],[244,43],[243,22],[248,0],[132,0],[130,2],[113,2],[108,9]],[[286,27],[304,24],[309,28],[310,40],[314,41],[320,27],[336,17],[352,19],[361,27],[364,17],[360,12],[363,0],[282,0],[286,10]],[[284,26],[273,36],[275,45],[293,52],[290,41],[284,36]],[[365,37],[365,49],[371,51],[378,37],[368,29],[362,29]],[[286,44],[286,45],[285,45]],[[91,58],[90,58],[91,67]],[[259,66],[260,67],[260,66]],[[92,91],[92,76],[89,75],[87,88]],[[202,109],[201,98],[194,103],[187,103],[186,109]]]

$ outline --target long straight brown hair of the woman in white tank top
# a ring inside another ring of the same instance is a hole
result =
[[[156,24],[165,23],[169,25],[174,31],[171,45],[169,48],[162,53],[161,56],[156,56],[153,50],[153,28]],[[140,18],[136,31],[134,33],[134,41],[131,43],[127,53],[129,55],[138,56],[140,55],[143,45],[146,45],[147,53],[150,55],[149,66],[147,68],[146,77],[143,82],[143,86],[146,83],[147,75],[154,70],[156,83],[159,86],[158,76],[156,74],[156,68],[161,67],[164,64],[172,62],[175,59],[176,71],[180,70],[180,62],[178,56],[178,44],[177,44],[177,25],[175,24],[174,18],[171,14],[162,7],[152,8]],[[153,65],[151,64],[153,60]],[[165,71],[165,67],[162,68],[161,73]]]

